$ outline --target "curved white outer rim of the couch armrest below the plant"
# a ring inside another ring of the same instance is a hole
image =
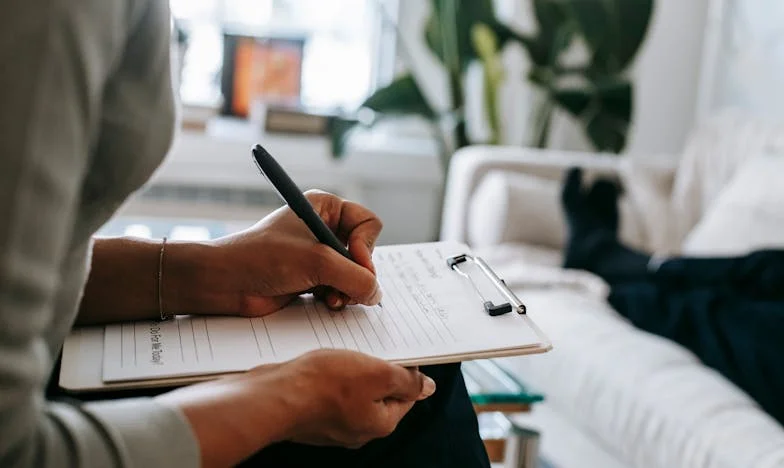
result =
[[[467,242],[469,204],[488,172],[503,170],[560,180],[563,172],[574,166],[594,173],[617,174],[621,159],[615,155],[511,146],[476,145],[457,151],[446,183],[441,239]]]

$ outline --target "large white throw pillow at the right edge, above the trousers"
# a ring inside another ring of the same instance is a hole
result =
[[[708,207],[683,254],[742,255],[784,247],[784,153],[749,159]]]

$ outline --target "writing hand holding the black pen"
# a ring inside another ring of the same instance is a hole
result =
[[[204,309],[209,305],[204,312],[262,316],[305,292],[314,292],[332,309],[349,303],[379,303],[381,290],[372,252],[381,220],[367,208],[329,193],[309,191],[306,196],[327,226],[347,244],[354,261],[319,243],[291,209],[281,207],[250,229],[209,244],[203,262],[208,278],[182,281],[186,291],[198,294]],[[175,259],[171,262],[186,255],[177,251],[176,245],[169,252],[167,255]],[[180,309],[175,305],[170,310]]]

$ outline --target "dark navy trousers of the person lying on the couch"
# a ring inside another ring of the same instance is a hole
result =
[[[784,251],[664,262],[611,284],[638,328],[688,348],[784,424]]]

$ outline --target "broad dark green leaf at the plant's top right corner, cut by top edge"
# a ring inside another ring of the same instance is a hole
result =
[[[645,39],[653,0],[558,1],[567,8],[592,52],[594,75],[620,73],[629,66]]]

